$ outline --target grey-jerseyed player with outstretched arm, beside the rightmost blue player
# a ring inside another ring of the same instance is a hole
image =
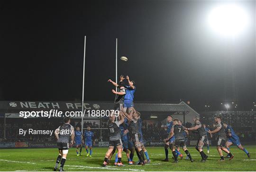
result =
[[[227,148],[225,148],[225,143],[226,143],[226,133],[225,133],[225,127],[223,126],[223,123],[221,122],[221,118],[219,116],[215,117],[215,123],[217,123],[217,128],[213,131],[208,131],[209,133],[217,133],[217,150],[220,155],[220,160],[219,161],[224,161],[224,157],[222,154],[222,150],[229,154],[229,160],[232,160],[234,158],[234,155],[229,152]]]

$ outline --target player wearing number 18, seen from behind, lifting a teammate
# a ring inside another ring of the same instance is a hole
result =
[[[110,115],[109,121],[108,121],[108,128],[109,128],[109,134],[110,134],[110,142],[109,142],[109,150],[105,155],[105,159],[103,162],[103,167],[107,166],[108,160],[116,147],[118,149],[118,164],[117,166],[123,166],[121,162],[122,158],[122,148],[123,144],[121,141],[121,136],[120,136],[120,130],[119,130],[119,125],[121,125],[124,122],[124,117],[120,113],[119,114],[120,120],[115,121],[116,116],[115,115]]]

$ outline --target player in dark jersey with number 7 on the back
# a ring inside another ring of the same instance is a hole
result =
[[[174,163],[178,163],[178,159],[177,159],[178,154],[176,154],[175,150],[176,150],[176,148],[179,148],[179,147],[182,147],[183,151],[187,154],[190,161],[194,162],[194,160],[191,157],[191,154],[189,153],[189,151],[186,147],[185,137],[183,136],[183,131],[184,131],[184,127],[182,125],[179,125],[179,120],[174,119],[170,134],[169,134],[168,138],[164,139],[164,140],[168,141],[168,140],[170,140],[170,138],[175,136],[175,140],[172,145],[172,151],[173,151],[173,155],[174,155]]]

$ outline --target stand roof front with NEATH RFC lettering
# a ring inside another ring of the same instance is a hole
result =
[[[5,113],[19,112],[20,110],[81,110],[81,102],[77,101],[0,101],[0,111]],[[84,103],[84,109],[110,110],[114,106],[113,102],[89,101]],[[194,111],[183,101],[179,104],[155,104],[155,103],[136,103],[137,111],[146,113],[174,113],[187,114]],[[196,111],[194,111],[197,113]]]

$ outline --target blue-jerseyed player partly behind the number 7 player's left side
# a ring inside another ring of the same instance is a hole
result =
[[[167,137],[169,136],[172,127],[173,127],[173,116],[169,115],[167,117],[167,123],[166,123]],[[165,141],[165,159],[163,161],[169,161],[169,158],[168,158],[168,154],[169,154],[168,147],[170,147],[170,149],[172,150],[172,145],[174,143],[174,140],[175,140],[175,136],[172,136],[169,140]],[[180,155],[181,159],[183,158],[183,155],[179,151],[176,150],[176,153]]]

